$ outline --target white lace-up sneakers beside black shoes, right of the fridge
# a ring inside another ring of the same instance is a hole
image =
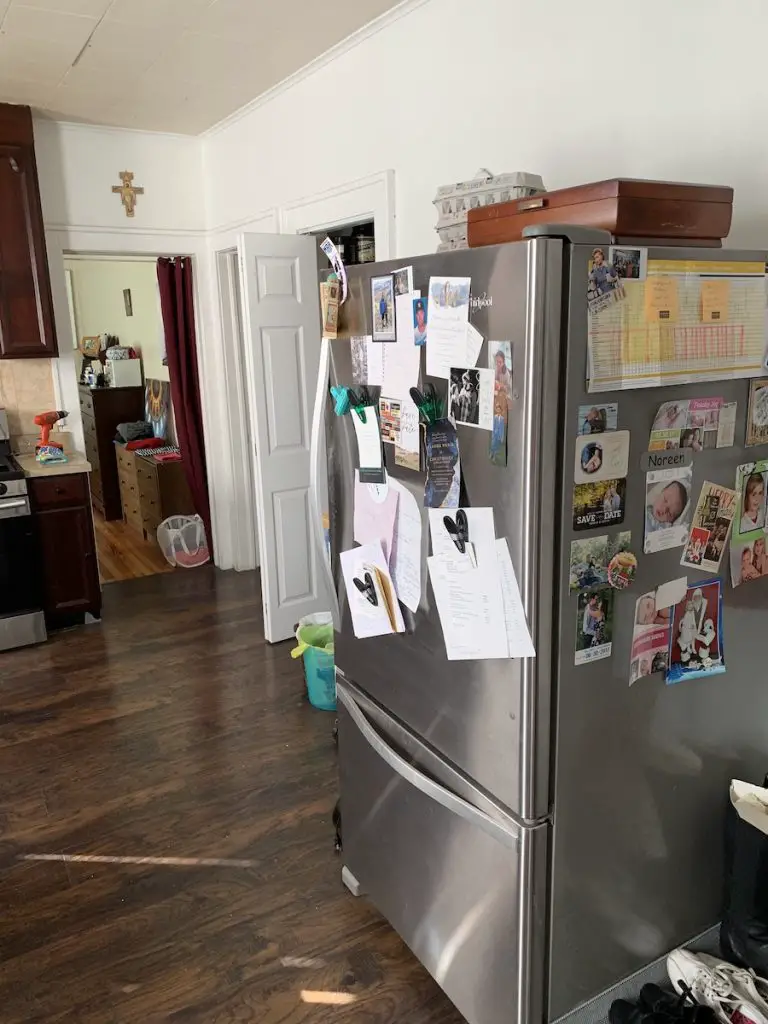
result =
[[[710,961],[713,959],[710,957]],[[724,971],[720,966],[723,963],[718,961],[717,967],[710,967],[688,949],[674,949],[667,957],[667,973],[676,992],[682,994],[686,988],[690,989],[693,998],[711,1007],[722,1024],[768,1024],[763,998],[758,993],[759,1005],[756,1005],[753,998],[744,997],[741,987],[736,987],[731,972]],[[732,967],[730,964],[726,966]]]

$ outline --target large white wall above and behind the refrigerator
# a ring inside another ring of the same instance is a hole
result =
[[[392,168],[396,252],[431,252],[437,186],[488,167],[732,184],[730,243],[766,246],[763,0],[417,0],[380,25],[205,137],[210,227]]]

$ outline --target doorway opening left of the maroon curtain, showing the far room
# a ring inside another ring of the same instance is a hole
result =
[[[174,571],[158,527],[196,509],[171,399],[158,259],[65,253],[63,263],[101,584]]]

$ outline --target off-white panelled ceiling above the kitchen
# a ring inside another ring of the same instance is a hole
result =
[[[0,101],[198,134],[398,2],[0,0]]]

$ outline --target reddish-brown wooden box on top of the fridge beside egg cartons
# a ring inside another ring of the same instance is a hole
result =
[[[470,248],[518,242],[530,224],[601,227],[614,239],[719,247],[731,226],[733,189],[611,178],[469,211]]]

